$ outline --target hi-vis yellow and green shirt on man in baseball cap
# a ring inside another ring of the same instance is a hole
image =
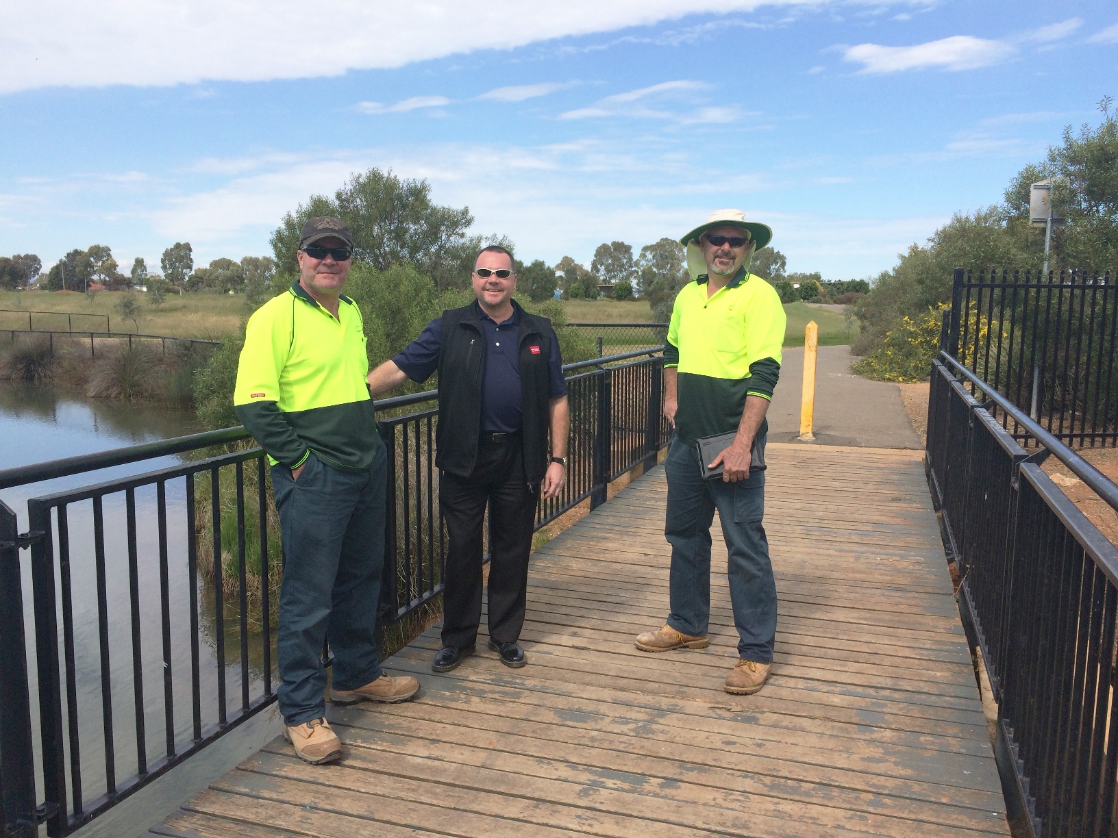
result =
[[[295,283],[248,318],[233,404],[272,465],[302,465],[310,451],[347,472],[372,465],[377,417],[357,304],[338,318]]]

